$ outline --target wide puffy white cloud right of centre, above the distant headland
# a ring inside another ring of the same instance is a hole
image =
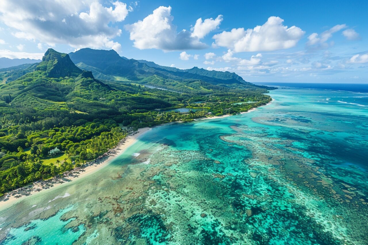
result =
[[[296,26],[287,28],[280,17],[269,17],[262,26],[253,29],[234,28],[213,36],[216,46],[227,47],[234,52],[257,52],[289,49],[294,47],[304,35]]]

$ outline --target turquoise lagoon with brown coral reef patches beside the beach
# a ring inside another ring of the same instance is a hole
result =
[[[368,244],[368,94],[270,95],[1,210],[1,244]]]

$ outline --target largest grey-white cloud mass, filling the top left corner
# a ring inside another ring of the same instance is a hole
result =
[[[74,48],[119,50],[120,44],[112,39],[120,36],[121,30],[114,24],[127,17],[128,9],[120,1],[112,5],[103,7],[95,0],[3,0],[0,2],[0,21],[14,28],[13,35],[17,38],[49,46],[60,43]]]

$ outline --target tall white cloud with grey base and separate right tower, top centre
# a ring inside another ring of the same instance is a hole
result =
[[[202,19],[198,19],[192,28],[193,32],[187,30],[177,32],[173,19],[171,7],[160,6],[143,20],[124,27],[130,32],[130,40],[134,40],[133,46],[138,49],[162,49],[164,51],[204,49],[207,45],[199,39],[212,29],[216,29],[222,17],[205,19],[203,22]],[[218,25],[215,25],[217,22]]]

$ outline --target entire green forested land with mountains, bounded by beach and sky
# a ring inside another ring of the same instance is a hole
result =
[[[237,114],[270,102],[272,89],[92,49],[49,49],[0,80],[0,195],[96,159],[138,128]]]

